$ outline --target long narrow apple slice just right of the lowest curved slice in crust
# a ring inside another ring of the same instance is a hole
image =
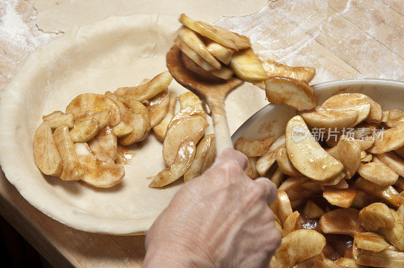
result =
[[[205,136],[205,138],[200,140],[200,142],[196,146],[196,153],[192,161],[192,164],[189,166],[189,168],[184,174],[185,182],[188,182],[194,177],[197,177],[200,174],[202,174],[202,168],[207,160],[208,152],[212,146],[213,147],[215,146],[214,134],[207,135]]]

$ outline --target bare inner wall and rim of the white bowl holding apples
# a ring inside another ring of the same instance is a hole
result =
[[[320,105],[339,93],[363,93],[382,106],[382,110],[404,108],[404,82],[385,79],[344,79],[312,86]],[[233,134],[233,143],[241,136],[256,140],[285,132],[286,123],[296,115],[293,108],[270,103],[248,118]]]

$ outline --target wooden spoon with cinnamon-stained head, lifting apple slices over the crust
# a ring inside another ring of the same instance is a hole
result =
[[[226,95],[243,81],[233,77],[230,80],[211,80],[185,68],[181,50],[174,45],[167,53],[167,67],[173,78],[183,87],[199,96],[211,110],[215,130],[216,151],[219,155],[227,148],[233,148],[224,101]]]

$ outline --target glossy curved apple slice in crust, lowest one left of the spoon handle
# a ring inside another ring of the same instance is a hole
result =
[[[192,163],[192,160],[195,157],[195,151],[195,143],[192,140],[182,141],[172,165],[160,171],[148,186],[163,187],[179,179]]]

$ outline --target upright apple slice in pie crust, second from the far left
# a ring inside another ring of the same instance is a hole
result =
[[[63,180],[82,179],[84,169],[77,158],[69,128],[65,125],[56,128],[54,131],[54,139],[63,162],[62,172],[58,177]]]

